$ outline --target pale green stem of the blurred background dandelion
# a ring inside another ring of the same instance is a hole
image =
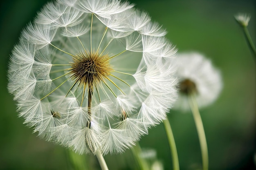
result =
[[[198,138],[199,138],[201,154],[202,154],[203,170],[208,170],[209,158],[208,158],[207,141],[205,137],[203,122],[202,122],[200,112],[198,110],[198,105],[194,95],[195,95],[194,93],[191,93],[189,95],[189,104],[190,104],[191,111],[193,113],[195,126],[198,132]]]

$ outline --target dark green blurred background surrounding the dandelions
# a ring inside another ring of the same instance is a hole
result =
[[[7,92],[7,67],[20,31],[33,20],[47,0],[0,2],[0,170],[72,170],[67,150],[36,137],[18,118],[15,102]],[[242,29],[233,15],[250,13],[249,32],[256,43],[255,0],[131,0],[148,11],[152,20],[168,31],[167,38],[180,52],[198,51],[211,58],[222,72],[224,88],[218,100],[201,111],[209,146],[210,170],[256,169],[255,62]],[[200,168],[200,146],[191,113],[171,111],[181,170]],[[142,137],[142,148],[155,148],[166,170],[171,156],[162,124]],[[106,155],[110,170],[136,168],[131,151]],[[76,160],[85,159],[77,157]],[[88,169],[99,168],[92,155]]]

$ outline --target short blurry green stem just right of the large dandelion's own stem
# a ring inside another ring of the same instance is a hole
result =
[[[137,159],[140,170],[149,170],[148,164],[144,159],[141,158],[141,147],[139,142],[136,142],[136,145],[132,147],[132,154]]]

